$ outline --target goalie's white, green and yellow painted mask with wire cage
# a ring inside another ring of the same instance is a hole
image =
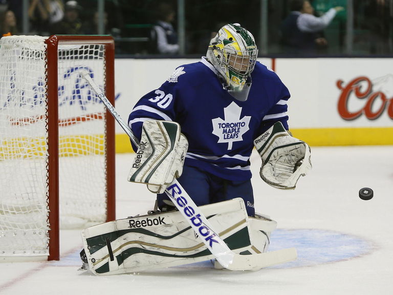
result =
[[[206,55],[228,92],[237,100],[247,100],[258,55],[254,36],[239,24],[225,25],[210,40]]]

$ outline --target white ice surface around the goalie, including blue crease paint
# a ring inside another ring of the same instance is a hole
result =
[[[154,195],[127,182],[132,155],[118,154],[117,218],[146,214]],[[277,221],[270,249],[295,246],[299,258],[263,270],[213,269],[202,262],[128,275],[95,276],[81,265],[80,231],[62,230],[61,260],[0,263],[0,294],[391,294],[393,289],[393,146],[312,147],[313,171],[294,191],[258,175],[256,212]],[[359,189],[371,187],[363,201]]]

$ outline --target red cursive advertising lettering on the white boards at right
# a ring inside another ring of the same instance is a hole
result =
[[[355,120],[364,114],[367,119],[375,120],[386,111],[390,119],[393,119],[393,96],[388,96],[391,94],[388,87],[391,88],[392,80],[393,75],[386,75],[373,81],[366,76],[360,76],[346,85],[343,80],[338,80],[336,85],[341,90],[338,113],[341,118]],[[356,99],[363,100],[363,106],[350,111],[351,101]]]

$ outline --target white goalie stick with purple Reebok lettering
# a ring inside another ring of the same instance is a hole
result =
[[[139,147],[139,139],[134,135],[112,103],[106,98],[101,89],[94,82],[91,74],[85,69],[82,69],[81,76],[89,83],[90,87],[103,102],[104,106],[112,114],[115,120],[120,124],[128,137]],[[257,270],[263,267],[289,262],[297,258],[295,248],[287,248],[253,255],[235,254],[211,228],[209,221],[202,214],[197,205],[195,205],[176,178],[174,178],[173,182],[165,189],[165,193],[173,201],[173,204],[176,205],[179,212],[188,221],[195,233],[198,234],[211,254],[213,254],[217,261],[227,269]]]

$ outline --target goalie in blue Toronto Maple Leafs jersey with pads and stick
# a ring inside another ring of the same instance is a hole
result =
[[[267,184],[294,189],[311,152],[288,132],[289,91],[257,53],[249,31],[225,25],[207,56],[137,102],[121,123],[136,151],[128,180],[157,194],[157,208],[86,228],[85,268],[111,275],[216,259],[256,270],[296,258],[267,251],[276,222],[255,213],[250,156],[255,148]]]

